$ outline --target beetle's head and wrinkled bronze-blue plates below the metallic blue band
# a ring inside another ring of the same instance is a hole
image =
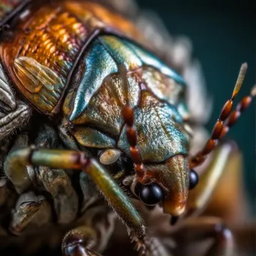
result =
[[[138,86],[132,74],[132,82],[127,81],[126,72],[106,78],[82,115],[70,118],[74,126],[70,132],[83,147],[103,150],[100,162],[112,173],[121,169],[114,162],[122,165],[123,156],[132,159],[141,201],[147,204],[155,196],[165,213],[178,216],[189,189],[189,133],[178,111],[182,100],[160,99],[146,85]],[[67,116],[73,113],[72,99],[70,91],[64,103]],[[132,165],[126,169],[131,175]]]

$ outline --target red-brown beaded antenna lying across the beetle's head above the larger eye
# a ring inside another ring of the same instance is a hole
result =
[[[134,109],[129,106],[128,97],[128,80],[127,80],[127,69],[124,65],[119,67],[120,76],[122,82],[124,83],[124,100],[126,106],[122,109],[122,115],[124,118],[124,124],[127,125],[127,141],[129,143],[129,152],[132,156],[132,161],[134,163],[134,169],[138,177],[138,181],[142,182],[144,178],[144,165],[141,161],[141,152],[137,146],[137,133],[134,128]]]

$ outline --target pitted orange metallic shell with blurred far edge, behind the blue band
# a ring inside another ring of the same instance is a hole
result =
[[[19,91],[46,115],[59,111],[70,71],[92,34],[141,37],[128,20],[91,1],[32,1],[10,25],[12,33],[0,43],[1,62]]]

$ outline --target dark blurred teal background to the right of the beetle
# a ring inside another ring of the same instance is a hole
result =
[[[240,65],[249,64],[238,100],[255,84],[255,3],[250,1],[138,0],[142,8],[156,11],[171,34],[188,36],[201,61],[209,93],[213,96],[211,130],[222,105],[231,97]],[[244,156],[246,190],[255,213],[255,103],[228,133]]]

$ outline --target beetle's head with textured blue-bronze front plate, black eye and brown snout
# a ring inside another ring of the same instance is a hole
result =
[[[180,216],[189,191],[189,135],[183,119],[175,106],[148,91],[141,91],[141,104],[133,114],[133,122],[124,116],[127,125],[118,147],[134,159],[135,194],[144,204],[160,203],[165,213]],[[136,138],[129,138],[131,135]],[[135,151],[139,151],[140,161],[133,156]]]

